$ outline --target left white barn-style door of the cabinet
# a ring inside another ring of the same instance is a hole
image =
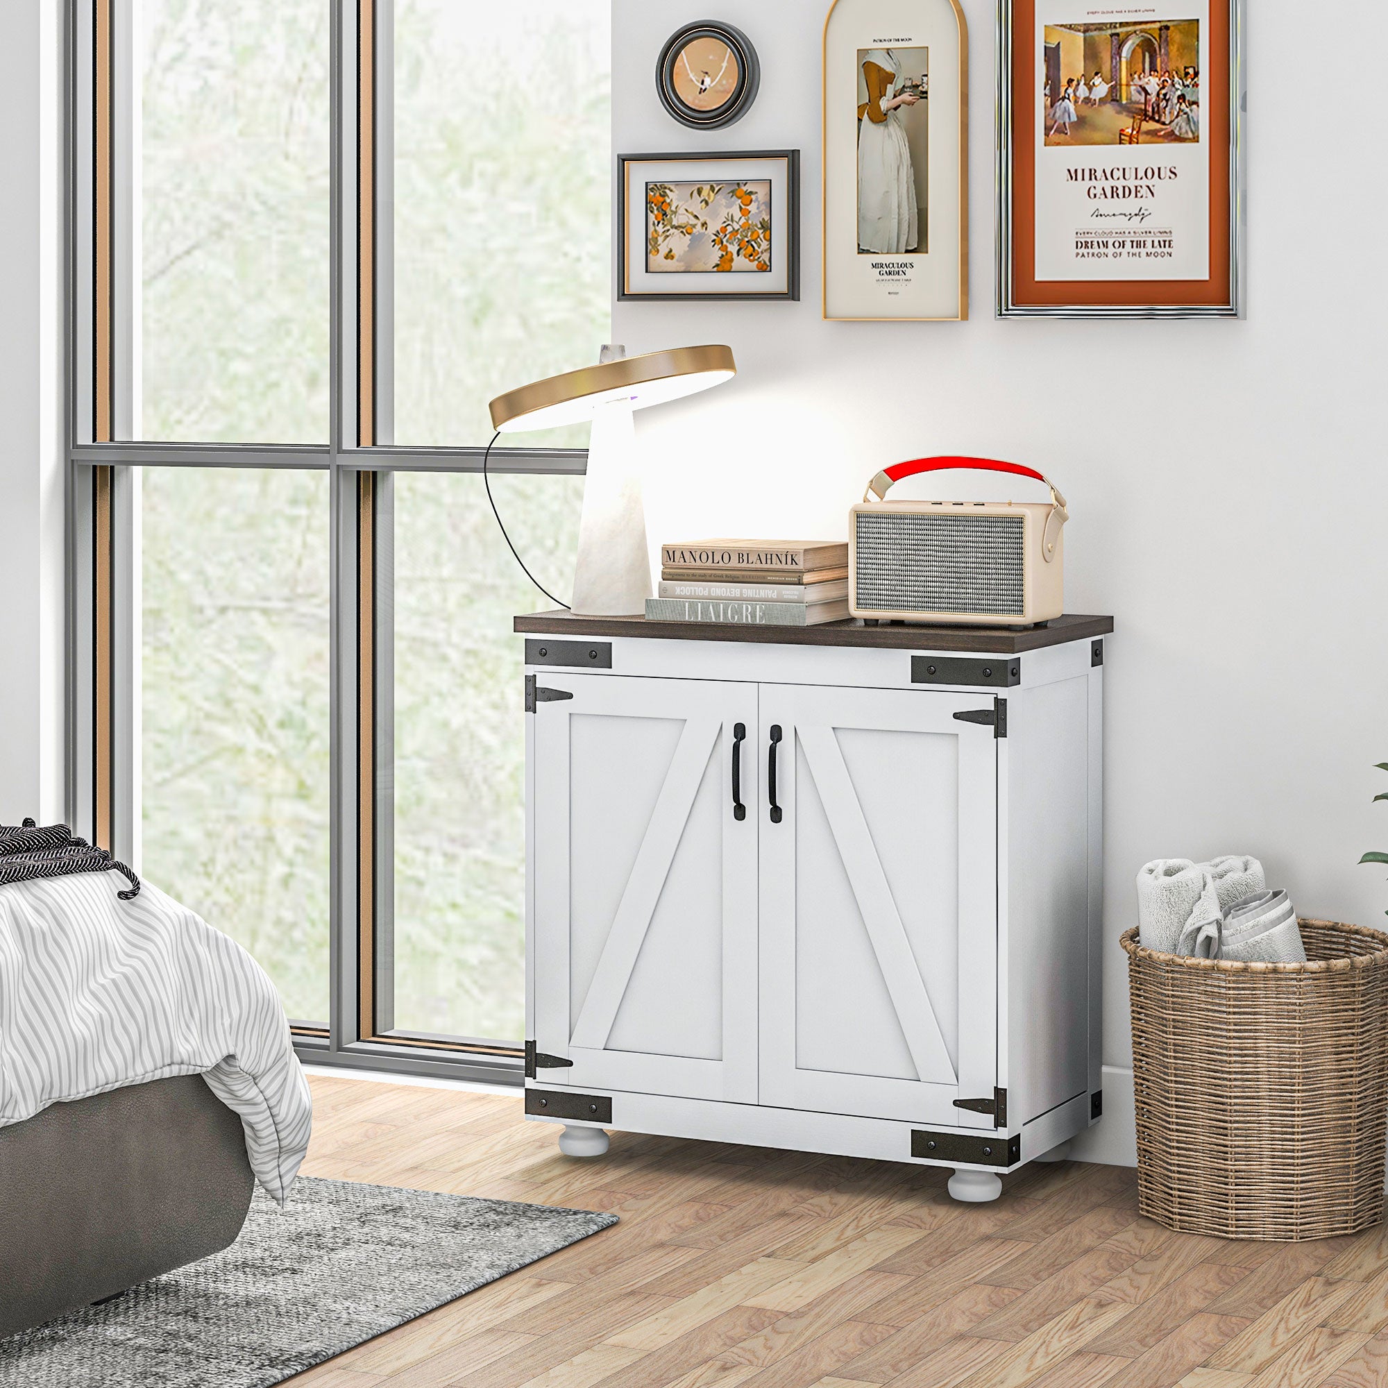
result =
[[[533,1034],[573,1062],[544,1083],[755,1103],[756,686],[539,683],[573,695],[534,713]]]

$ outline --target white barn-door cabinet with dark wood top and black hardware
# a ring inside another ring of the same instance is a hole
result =
[[[1112,629],[518,618],[527,1116],[962,1199],[1097,1122]]]

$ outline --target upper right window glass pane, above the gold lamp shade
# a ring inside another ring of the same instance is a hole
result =
[[[396,0],[397,444],[486,443],[489,400],[611,336],[611,0]]]

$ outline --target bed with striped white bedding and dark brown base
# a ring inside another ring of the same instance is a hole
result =
[[[0,886],[0,1335],[229,1245],[312,1108],[273,985],[144,884]]]

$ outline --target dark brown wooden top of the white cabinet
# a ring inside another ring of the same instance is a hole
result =
[[[515,619],[526,636],[630,636],[648,641],[751,641],[762,645],[859,645],[887,651],[977,651],[1020,655],[1066,641],[1088,641],[1113,630],[1110,616],[1059,616],[1045,626],[729,626],[722,622],[647,622],[644,616],[573,616],[534,612]]]

